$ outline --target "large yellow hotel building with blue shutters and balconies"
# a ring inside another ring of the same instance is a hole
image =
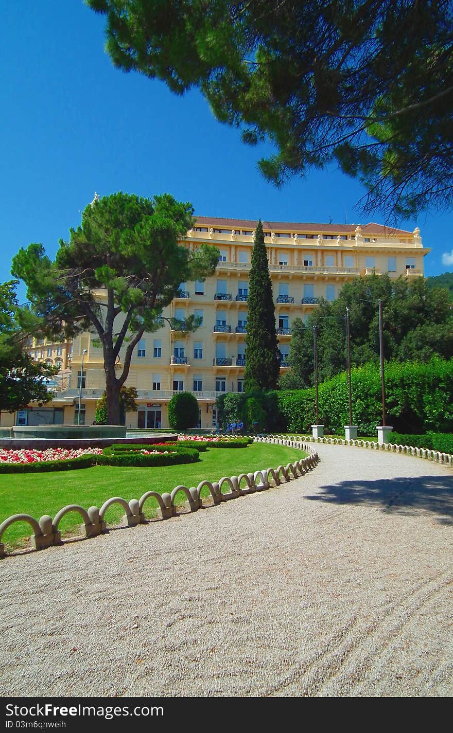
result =
[[[175,391],[194,392],[199,402],[199,427],[216,426],[215,402],[225,391],[242,391],[245,369],[248,274],[256,221],[198,217],[181,242],[190,249],[202,243],[218,247],[216,273],[202,282],[180,285],[180,292],[163,315],[184,319],[202,317],[191,334],[160,331],[145,334],[133,356],[126,386],[136,387],[139,411],[128,413],[126,425],[168,427],[167,405]],[[268,251],[276,328],[281,350],[281,372],[289,367],[291,324],[306,318],[319,298],[334,300],[342,285],[373,272],[391,278],[423,276],[423,258],[430,249],[421,244],[419,229],[406,232],[380,224],[298,224],[263,221]],[[94,334],[84,333],[73,342],[69,386],[63,386],[49,410],[53,420],[77,422],[78,395],[82,386],[81,419],[95,419],[97,399],[105,388],[102,350],[93,344]],[[84,354],[81,375],[82,353]],[[122,357],[119,357],[122,369]],[[82,380],[82,382],[81,382]],[[37,410],[37,408],[33,408]],[[37,424],[33,410],[23,410],[21,421]],[[25,417],[24,413],[29,414]],[[2,415],[2,424],[17,424],[18,413]],[[44,419],[44,421],[47,421]]]

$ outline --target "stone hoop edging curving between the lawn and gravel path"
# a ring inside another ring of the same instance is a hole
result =
[[[107,509],[112,504],[120,504],[125,509],[125,516],[123,522],[127,523],[128,526],[137,526],[139,524],[146,523],[144,517],[143,507],[145,501],[148,498],[153,497],[158,501],[159,509],[161,510],[162,519],[169,519],[177,515],[177,505],[175,499],[178,493],[183,492],[187,498],[189,508],[191,512],[196,512],[201,509],[203,501],[201,498],[202,489],[207,487],[210,491],[213,504],[221,504],[222,501],[229,501],[232,498],[238,498],[245,496],[246,494],[254,493],[256,491],[265,491],[270,488],[270,479],[273,481],[274,486],[280,486],[281,483],[291,481],[291,479],[303,476],[307,471],[312,469],[319,463],[320,457],[317,451],[309,446],[307,443],[303,443],[294,438],[276,438],[270,436],[267,438],[253,438],[256,443],[278,443],[285,445],[290,448],[301,449],[308,453],[306,458],[296,460],[294,463],[287,463],[286,466],[279,465],[277,468],[260,469],[250,474],[240,474],[239,476],[223,476],[218,482],[210,482],[203,480],[199,482],[199,485],[188,488],[187,486],[178,485],[174,487],[172,493],[159,494],[157,491],[147,491],[141,496],[139,500],[130,499],[126,501],[120,496],[114,496],[107,499],[102,507],[89,507],[84,509],[78,504],[68,504],[66,507],[60,509],[60,511],[52,519],[49,515],[43,515],[40,520],[37,521],[28,514],[15,514],[8,517],[0,524],[0,558],[7,555],[4,550],[4,545],[1,542],[1,537],[4,531],[7,530],[10,525],[15,522],[28,522],[34,531],[32,534],[32,547],[35,550],[43,550],[44,548],[51,547],[52,545],[61,545],[62,537],[59,531],[59,523],[62,518],[69,512],[78,512],[81,515],[84,523],[81,525],[84,531],[84,537],[96,537],[98,534],[102,534],[107,530],[107,523],[105,515]],[[229,491],[222,493],[221,489],[224,484],[227,484]]]

